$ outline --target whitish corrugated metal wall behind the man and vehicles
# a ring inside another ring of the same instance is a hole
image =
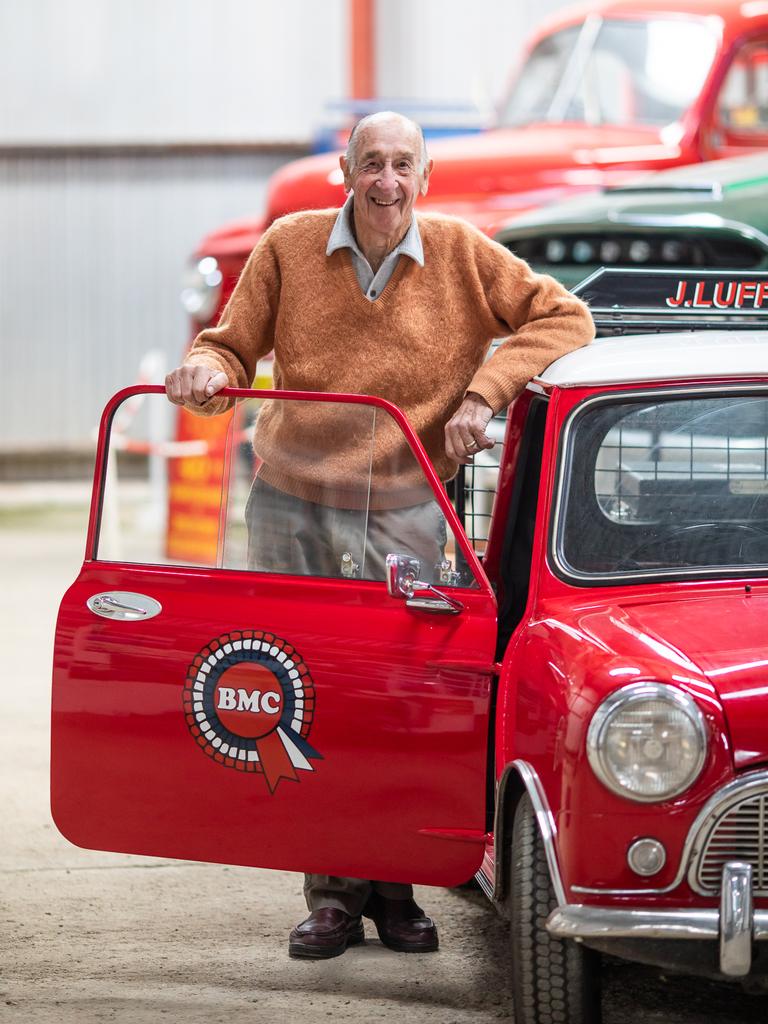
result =
[[[379,0],[379,94],[496,97],[555,6]],[[346,93],[347,15],[346,0],[0,0],[0,451],[87,442],[147,348],[176,361],[189,252],[261,213],[289,159],[77,145],[307,141]]]

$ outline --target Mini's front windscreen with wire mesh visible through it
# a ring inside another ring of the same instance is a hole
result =
[[[768,565],[768,394],[589,403],[567,430],[556,560],[580,578]]]

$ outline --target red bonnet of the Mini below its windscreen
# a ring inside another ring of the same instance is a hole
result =
[[[672,682],[700,673],[722,702],[736,767],[768,762],[768,592],[761,584],[750,593],[677,595],[588,617],[593,636],[625,658],[642,658],[646,670],[648,657],[660,657]]]

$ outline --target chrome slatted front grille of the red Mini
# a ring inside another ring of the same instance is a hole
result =
[[[752,864],[755,896],[768,896],[768,786],[744,794],[716,810],[699,834],[689,880],[702,894],[720,892],[723,865]]]

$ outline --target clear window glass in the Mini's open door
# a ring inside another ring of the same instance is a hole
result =
[[[130,430],[113,419],[99,560],[383,581],[404,554],[425,583],[476,586],[386,411],[249,398],[184,442],[164,395],[136,397]]]

